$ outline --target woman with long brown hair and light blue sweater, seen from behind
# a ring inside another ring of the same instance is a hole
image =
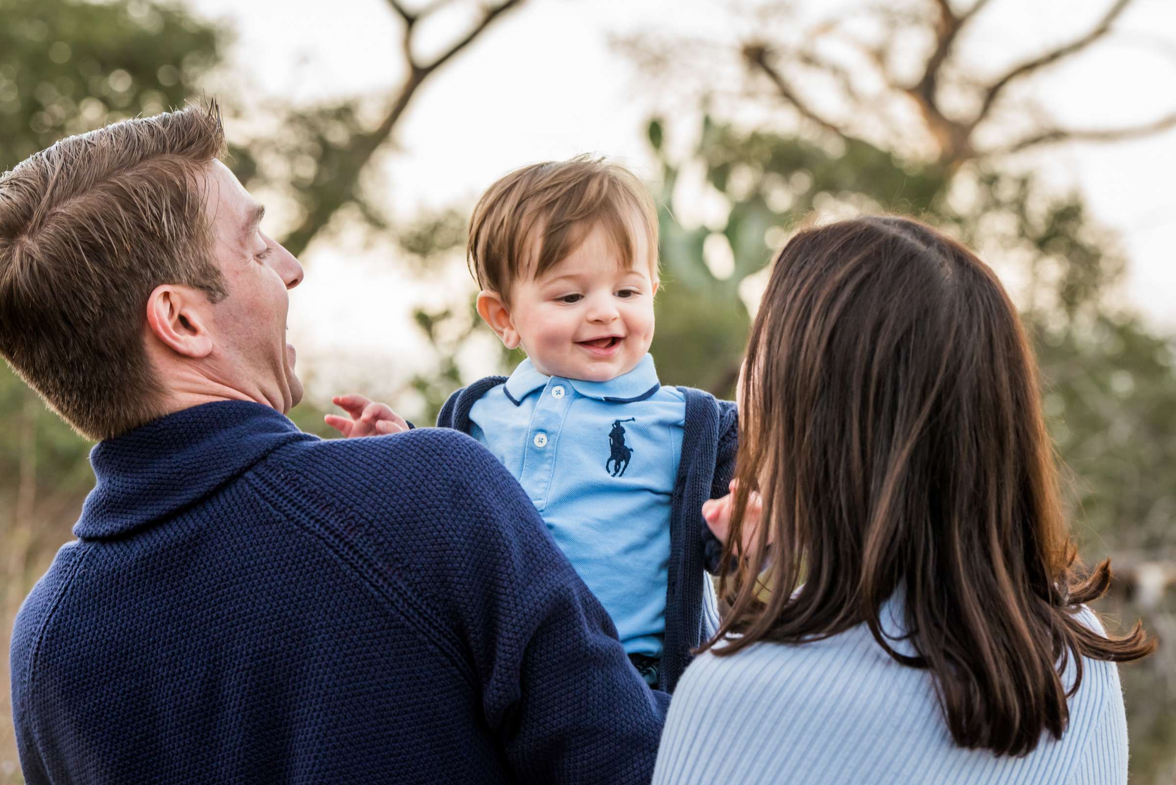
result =
[[[1125,783],[1114,663],[1155,642],[1083,606],[1110,569],[1078,575],[1040,409],[1017,313],[968,249],[895,217],[789,242],[735,491],[704,510],[730,611],[654,781]]]

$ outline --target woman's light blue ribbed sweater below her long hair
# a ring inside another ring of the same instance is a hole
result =
[[[901,632],[894,598],[881,618]],[[889,622],[887,619],[889,618]],[[1095,615],[1082,618],[1102,632]],[[909,642],[891,642],[914,653]],[[1063,673],[1073,685],[1073,667]],[[1123,785],[1127,719],[1114,663],[1083,660],[1061,740],[1042,736],[1028,756],[956,746],[926,670],[900,665],[862,624],[800,645],[760,643],[710,652],[674,693],[654,785]]]

